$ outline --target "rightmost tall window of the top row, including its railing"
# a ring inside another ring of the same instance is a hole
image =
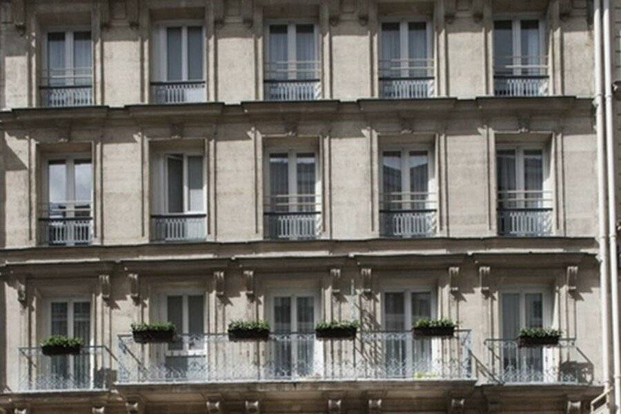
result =
[[[548,69],[542,21],[495,21],[493,50],[495,95],[547,94]]]

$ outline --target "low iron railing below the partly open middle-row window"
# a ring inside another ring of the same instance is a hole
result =
[[[151,216],[153,242],[190,242],[207,236],[206,214],[168,214]]]

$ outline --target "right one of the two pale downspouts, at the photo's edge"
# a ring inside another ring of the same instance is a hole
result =
[[[604,97],[606,100],[606,172],[608,181],[608,247],[610,255],[610,288],[611,313],[613,333],[613,380],[615,414],[621,414],[621,340],[619,332],[619,269],[617,258],[617,206],[615,183],[615,126],[614,102],[612,91],[612,49],[611,49],[611,5],[610,0],[604,0],[603,30],[604,30]]]

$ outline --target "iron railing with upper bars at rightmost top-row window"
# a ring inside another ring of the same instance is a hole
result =
[[[500,56],[494,59],[494,95],[541,97],[548,95],[546,56]]]

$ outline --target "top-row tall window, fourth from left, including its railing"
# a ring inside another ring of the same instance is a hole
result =
[[[382,23],[380,95],[384,98],[433,96],[431,24],[426,21]]]

